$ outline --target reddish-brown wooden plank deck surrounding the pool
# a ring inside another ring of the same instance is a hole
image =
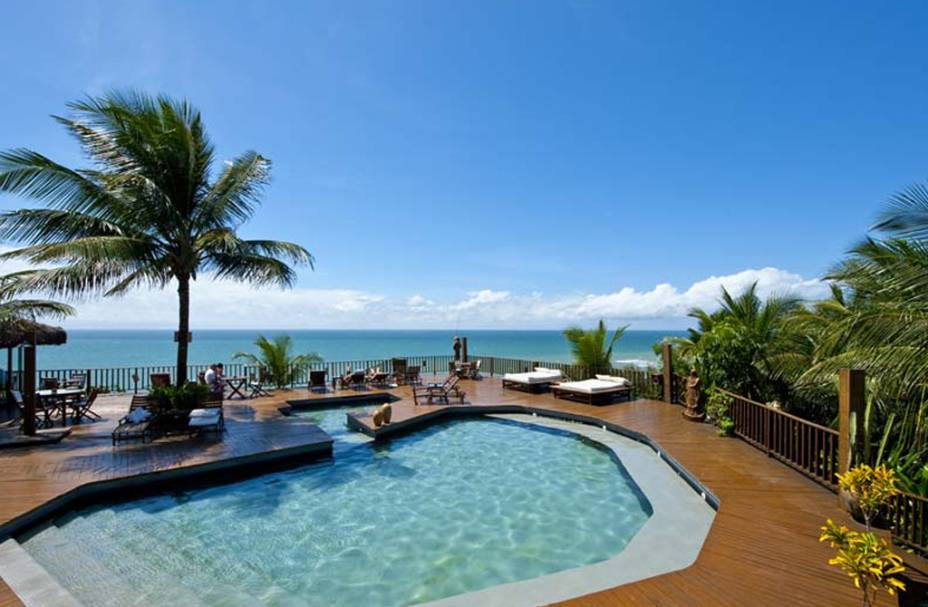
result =
[[[850,521],[834,494],[743,441],[719,438],[705,424],[687,422],[681,408],[638,400],[595,407],[549,394],[503,390],[498,379],[462,382],[468,406],[520,405],[540,411],[601,419],[646,434],[685,466],[721,505],[696,563],[678,571],[566,604],[611,605],[859,605],[846,576],[827,565],[830,550],[818,542],[826,518]],[[393,424],[403,430],[423,416],[442,416],[443,405],[415,407],[408,387],[390,390]],[[311,440],[314,426],[287,418],[287,400],[322,405],[345,395],[284,391],[250,401],[227,401],[226,440],[171,440],[113,449],[108,432],[128,407],[128,397],[107,397],[108,421],[75,427],[59,445],[0,452],[0,524],[71,489],[96,480],[206,463]],[[459,405],[451,405],[452,408]],[[369,418],[361,416],[361,423]],[[881,596],[881,605],[892,605]],[[0,584],[0,607],[18,605]]]

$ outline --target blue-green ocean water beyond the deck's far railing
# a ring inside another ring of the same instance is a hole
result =
[[[296,353],[318,352],[326,360],[451,354],[455,335],[467,336],[471,354],[546,361],[569,361],[560,331],[436,330],[203,330],[194,331],[191,363],[228,362],[236,352],[255,350],[255,337],[287,333]],[[613,354],[617,362],[656,361],[651,346],[681,331],[626,331]],[[176,357],[173,331],[71,330],[68,343],[39,350],[40,369],[171,365]]]

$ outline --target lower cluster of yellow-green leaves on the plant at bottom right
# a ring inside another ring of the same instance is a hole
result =
[[[877,538],[872,532],[851,531],[828,519],[819,541],[828,542],[838,550],[828,564],[840,567],[854,580],[854,586],[863,594],[864,607],[876,602],[880,589],[890,596],[905,590],[905,584],[899,579],[905,572],[902,558],[889,549],[886,540]]]

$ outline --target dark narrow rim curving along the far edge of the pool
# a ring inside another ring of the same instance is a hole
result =
[[[429,407],[429,405],[420,405],[421,407]],[[612,422],[605,420],[597,419],[595,417],[590,417],[587,415],[582,415],[579,413],[568,413],[564,411],[552,411],[550,409],[545,409],[541,407],[533,407],[531,405],[520,405],[520,404],[505,404],[505,405],[449,405],[441,406],[440,408],[432,409],[421,415],[415,417],[404,419],[400,421],[395,421],[391,424],[381,426],[375,431],[371,429],[359,419],[363,416],[360,416],[355,413],[347,413],[347,423],[348,427],[352,430],[356,430],[367,436],[370,436],[374,440],[382,440],[386,438],[400,436],[407,432],[411,432],[421,428],[422,426],[431,425],[442,421],[446,418],[453,417],[466,417],[472,415],[492,415],[497,413],[524,413],[527,415],[538,415],[542,417],[550,417],[553,419],[562,419],[572,422],[577,422],[581,424],[586,424],[589,426],[597,426],[614,432],[615,434],[622,435],[626,438],[629,438],[633,441],[642,443],[650,447],[658,457],[660,457],[664,462],[670,466],[674,472],[677,473],[686,483],[695,491],[700,497],[705,500],[713,510],[719,509],[719,499],[716,495],[705,485],[702,484],[698,478],[696,478],[693,473],[687,470],[680,462],[667,454],[667,452],[657,443],[646,434],[641,432],[636,432],[630,430],[625,426],[620,426]]]

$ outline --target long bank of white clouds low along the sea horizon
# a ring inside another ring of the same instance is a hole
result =
[[[2,252],[3,247],[0,247]],[[25,266],[4,263],[0,273]],[[749,269],[710,276],[685,289],[661,283],[647,291],[619,287],[604,293],[513,293],[482,289],[454,300],[436,301],[421,293],[387,297],[357,289],[255,289],[201,277],[191,289],[195,328],[559,328],[599,318],[653,327],[686,326],[687,311],[717,307],[721,287],[739,293],[756,282],[766,297],[789,294],[804,299],[828,295],[827,283],[777,268]],[[70,328],[169,328],[176,324],[173,287],[142,289],[120,298],[77,304]]]

